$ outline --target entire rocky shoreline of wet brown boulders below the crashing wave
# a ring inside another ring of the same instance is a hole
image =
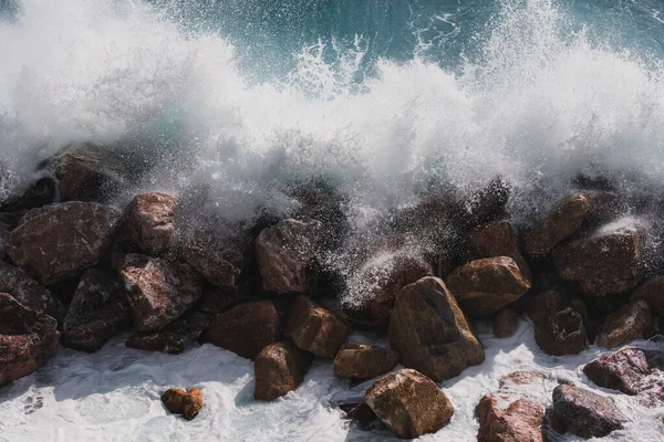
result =
[[[184,217],[196,210],[185,196],[143,192],[117,207],[108,196],[135,177],[127,162],[66,150],[0,206],[0,386],[39,369],[59,345],[95,351],[132,328],[131,348],[178,354],[200,341],[253,360],[258,400],[297,390],[312,360],[328,358],[335,376],[376,378],[364,401],[340,404],[349,419],[417,438],[454,417],[436,382],[485,359],[474,323],[509,337],[525,316],[549,355],[591,343],[615,349],[583,368],[598,387],[664,404],[664,350],[622,348],[661,333],[664,276],[647,266],[649,229],[614,189],[581,182],[516,225],[510,186],[495,179],[465,201],[423,196],[357,241],[343,198],[324,190],[293,194],[299,209],[288,217],[234,229]],[[341,249],[346,272],[323,259]],[[391,348],[349,341],[353,329],[384,334]],[[515,372],[484,397],[477,439],[593,438],[624,427],[611,398],[573,385],[556,388],[549,409],[505,400],[502,383],[542,379]],[[194,419],[204,393],[162,399]]]

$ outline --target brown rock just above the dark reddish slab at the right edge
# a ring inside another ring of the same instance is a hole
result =
[[[606,317],[598,337],[600,347],[613,348],[634,339],[645,339],[653,333],[655,323],[645,301],[634,301]]]

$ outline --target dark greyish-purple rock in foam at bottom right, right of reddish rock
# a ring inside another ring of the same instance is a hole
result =
[[[573,386],[558,386],[553,390],[551,423],[556,431],[570,432],[581,438],[603,438],[621,430],[626,417],[613,399]]]

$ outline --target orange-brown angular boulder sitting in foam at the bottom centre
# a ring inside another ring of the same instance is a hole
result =
[[[376,380],[364,400],[383,423],[404,439],[435,433],[454,414],[443,390],[426,376],[407,368]]]

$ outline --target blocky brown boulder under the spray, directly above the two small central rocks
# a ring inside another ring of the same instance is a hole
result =
[[[320,221],[287,219],[263,229],[256,240],[256,259],[264,292],[305,294],[309,270],[321,251]]]

